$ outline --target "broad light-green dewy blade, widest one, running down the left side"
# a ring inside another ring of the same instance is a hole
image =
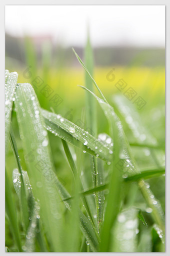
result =
[[[40,106],[30,84],[17,85],[15,107],[27,171],[33,193],[39,199],[40,216],[51,244],[51,251],[62,251],[59,230],[62,226],[64,207],[59,203],[60,196],[56,189],[59,181],[54,174]]]

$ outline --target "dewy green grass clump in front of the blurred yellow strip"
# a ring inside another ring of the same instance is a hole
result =
[[[5,71],[5,249],[164,251],[163,135],[149,132],[124,95],[107,102],[89,40],[85,64],[74,53],[85,71],[81,119],[92,134],[41,108],[31,84]],[[98,134],[97,104],[108,134]]]

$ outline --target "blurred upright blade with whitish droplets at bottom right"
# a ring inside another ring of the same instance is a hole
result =
[[[138,227],[138,210],[129,208],[122,210],[117,215],[117,220],[113,228],[111,251],[135,252],[137,247],[136,230]]]

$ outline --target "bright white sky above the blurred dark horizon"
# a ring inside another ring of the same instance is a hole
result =
[[[93,46],[165,44],[164,5],[7,5],[5,30],[14,36],[51,35],[83,46],[87,23]]]

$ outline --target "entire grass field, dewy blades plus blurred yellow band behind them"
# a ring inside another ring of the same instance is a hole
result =
[[[95,67],[87,43],[94,81],[26,51],[6,72],[6,250],[164,251],[164,66]]]

